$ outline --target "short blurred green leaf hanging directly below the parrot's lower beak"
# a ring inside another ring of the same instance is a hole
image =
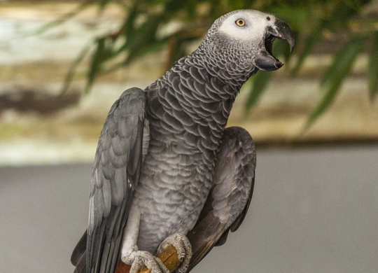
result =
[[[257,104],[261,94],[267,87],[271,76],[272,73],[269,71],[258,71],[258,73],[253,76],[251,91],[246,99],[246,113],[251,111],[252,107]]]

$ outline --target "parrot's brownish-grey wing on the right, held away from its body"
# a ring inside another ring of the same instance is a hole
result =
[[[251,202],[255,177],[255,147],[240,127],[225,130],[211,188],[193,230],[188,232],[193,258],[188,272],[211,248],[225,243],[228,232],[239,228]]]

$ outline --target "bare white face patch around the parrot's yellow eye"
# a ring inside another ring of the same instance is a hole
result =
[[[239,20],[244,21],[243,27],[238,26]],[[273,15],[258,10],[239,10],[226,18],[218,31],[235,40],[259,41],[264,38],[266,28],[273,26],[275,21],[276,18]]]

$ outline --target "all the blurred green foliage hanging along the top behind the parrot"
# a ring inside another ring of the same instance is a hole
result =
[[[325,38],[340,43],[330,67],[325,71],[320,89],[323,97],[309,116],[307,126],[321,116],[332,103],[340,87],[351,71],[351,66],[365,44],[370,46],[369,92],[373,99],[378,92],[378,31],[377,15],[367,16],[366,10],[372,1],[369,0],[90,0],[83,2],[78,10],[59,18],[55,22],[38,29],[38,33],[50,29],[65,20],[69,20],[89,6],[97,6],[99,16],[110,4],[118,5],[123,11],[124,20],[118,29],[109,34],[97,37],[92,46],[86,46],[73,62],[66,76],[64,89],[69,86],[76,68],[85,56],[90,54],[91,62],[87,72],[86,92],[92,87],[94,80],[102,74],[130,64],[150,52],[169,49],[166,68],[180,57],[187,55],[186,48],[196,39],[206,34],[211,23],[219,16],[239,8],[252,8],[273,13],[285,21],[295,32],[296,48],[295,63],[292,65],[288,46],[276,46],[274,55],[285,59],[286,68],[292,67],[293,76],[302,67],[318,43]],[[179,27],[164,33],[171,22],[178,22]],[[332,53],[332,52],[330,52]],[[246,111],[258,103],[265,91],[272,73],[258,72],[253,77],[252,88],[248,94]]]

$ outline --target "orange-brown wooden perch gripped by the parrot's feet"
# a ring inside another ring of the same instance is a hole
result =
[[[174,248],[172,245],[167,246],[165,250],[158,255],[158,258],[164,262],[165,266],[170,272],[173,272],[180,265],[176,248]],[[120,260],[118,262],[116,273],[130,273],[130,265],[126,265]],[[147,267],[144,267],[139,273],[151,273],[151,271],[148,270]]]

